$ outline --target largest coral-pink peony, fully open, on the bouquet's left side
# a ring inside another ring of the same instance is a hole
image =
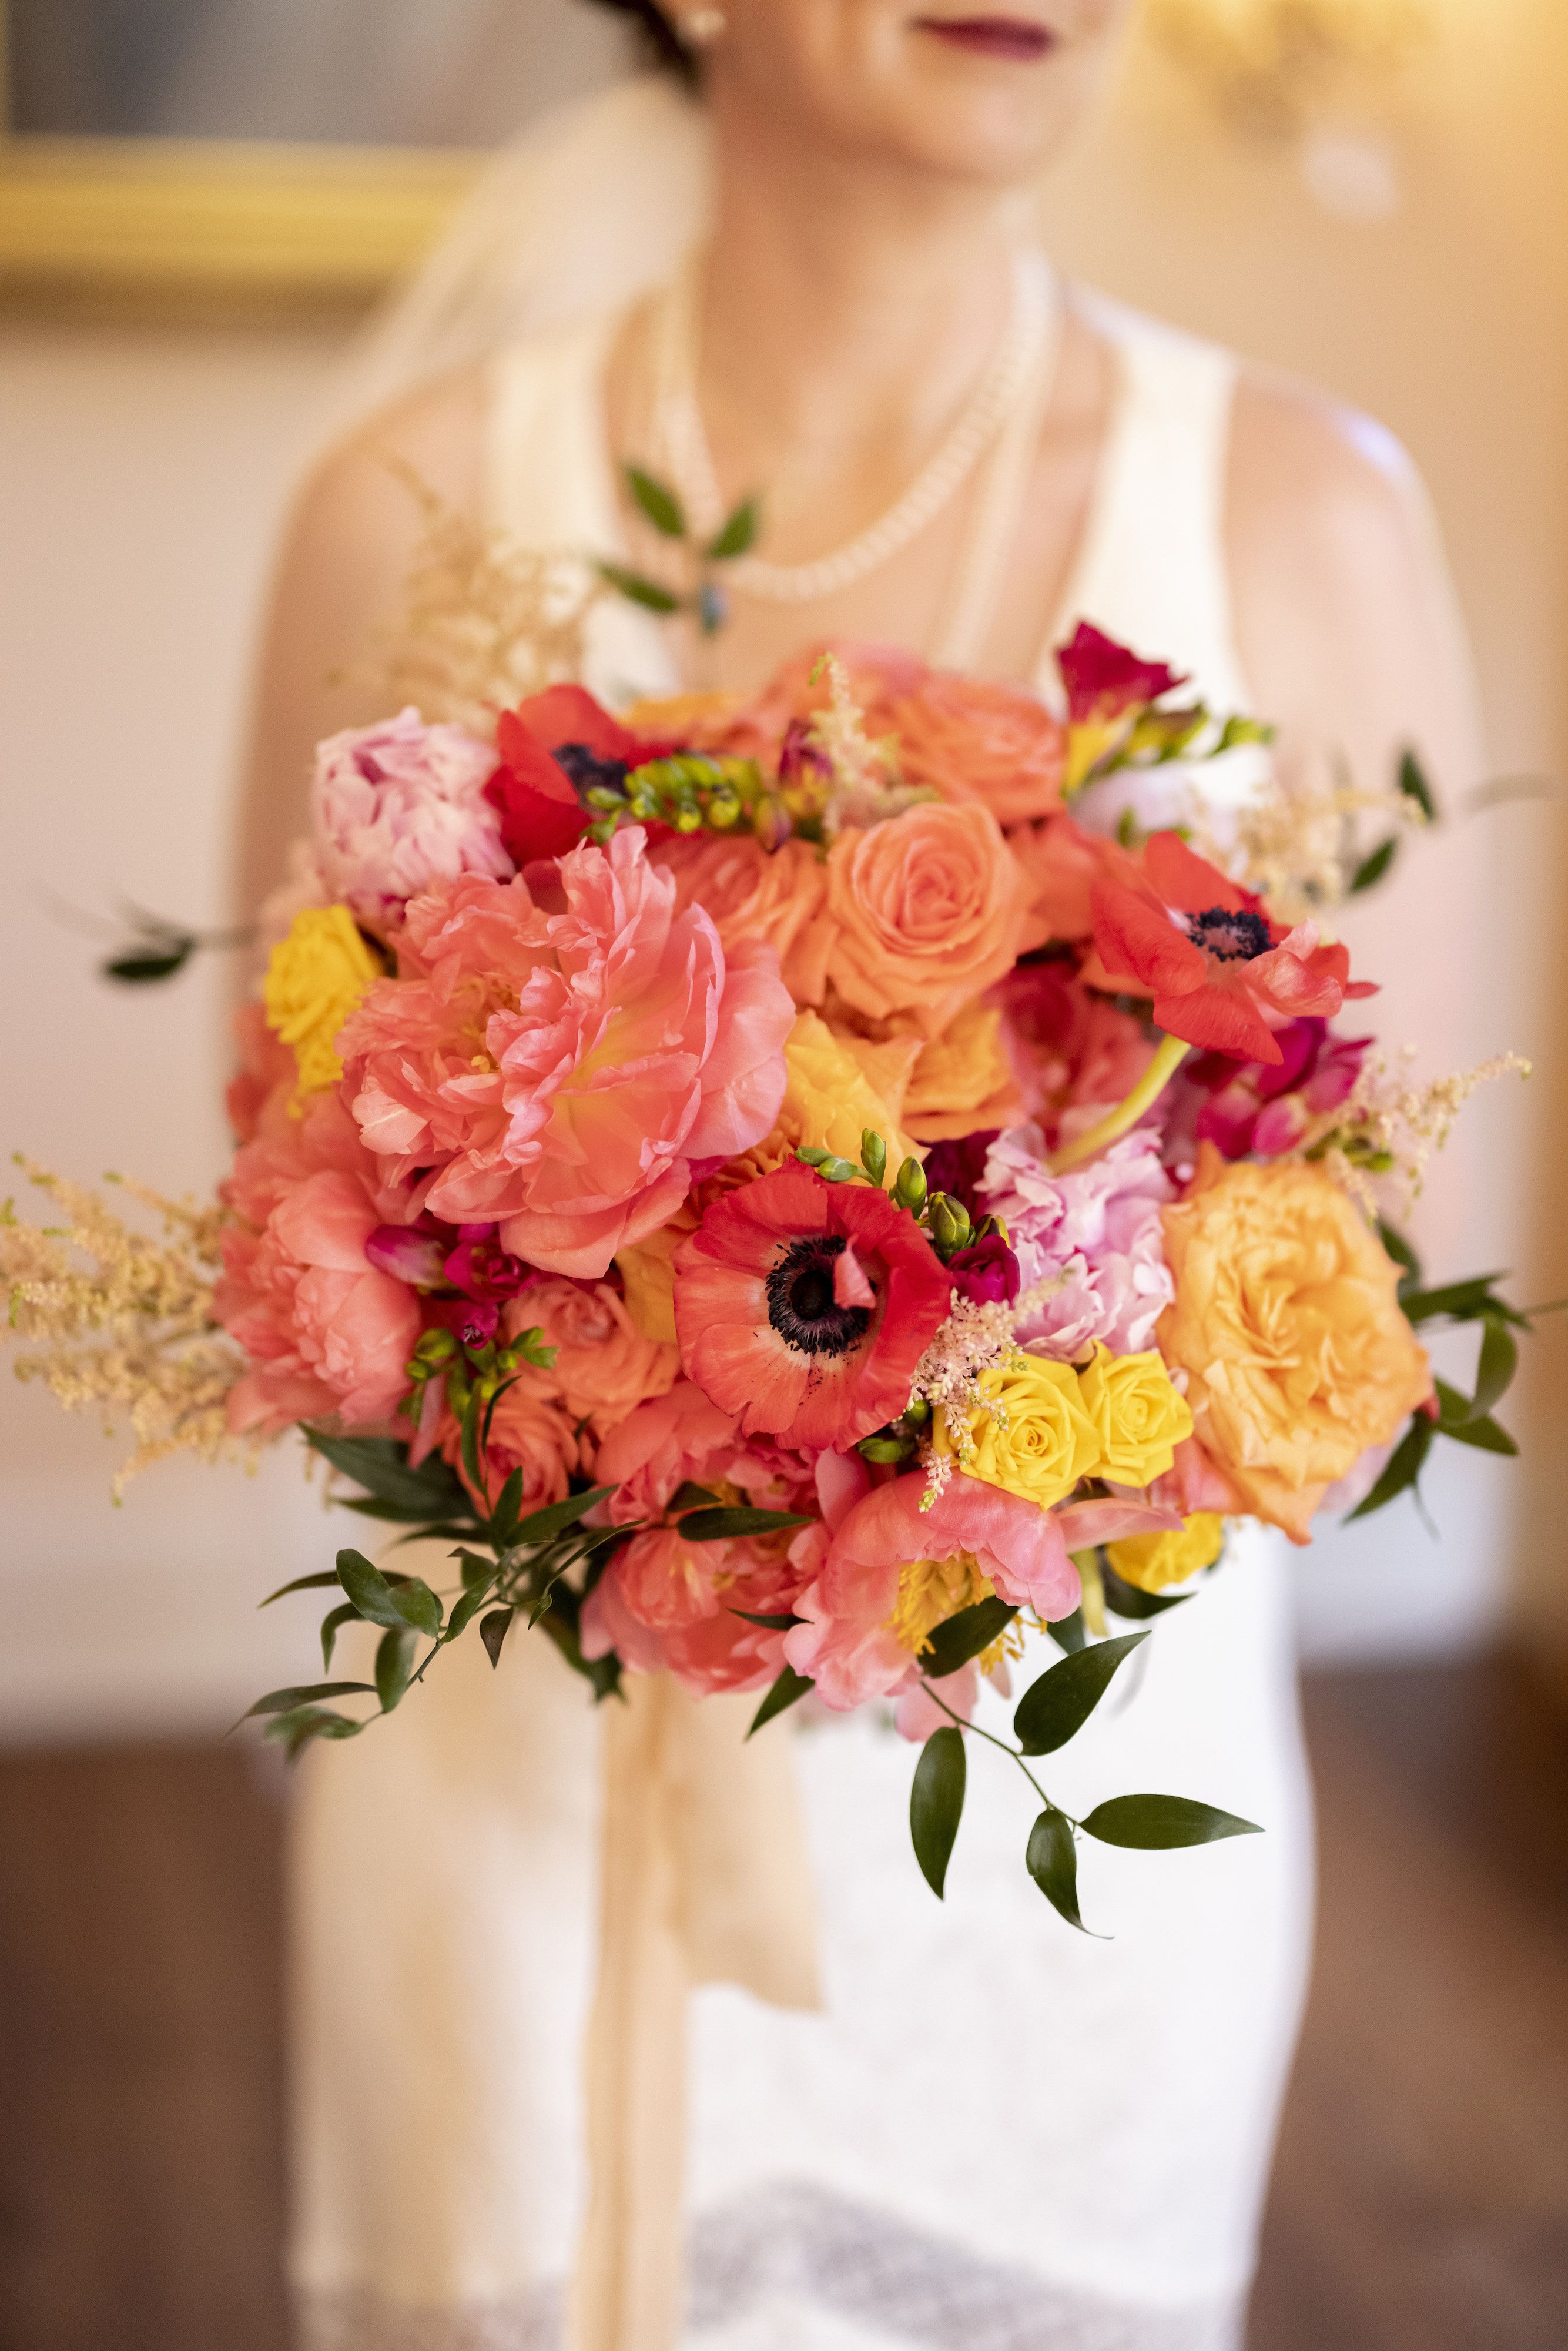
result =
[[[522,882],[416,898],[400,969],[341,1032],[367,1145],[454,1225],[555,1274],[604,1274],[708,1161],[769,1133],[795,1006],[766,945],[729,957],[649,865],[637,825],[559,860],[564,912]]]

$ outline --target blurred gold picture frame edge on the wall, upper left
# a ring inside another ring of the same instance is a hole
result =
[[[0,106],[9,89],[0,0]],[[12,134],[0,306],[254,317],[374,301],[440,235],[482,155],[454,148]]]

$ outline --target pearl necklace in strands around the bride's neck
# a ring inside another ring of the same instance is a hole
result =
[[[654,440],[661,465],[675,484],[698,536],[724,522],[724,491],[712,463],[698,402],[698,266],[693,254],[661,296],[654,317]],[[724,567],[729,585],[778,604],[809,604],[853,588],[893,555],[957,496],[994,444],[990,480],[957,569],[957,585],[938,661],[961,668],[978,654],[1027,480],[1039,423],[1056,379],[1060,348],[1060,301],[1056,277],[1037,252],[1020,254],[1013,301],[1001,341],[947,437],[896,503],[832,555],[804,564],[773,564],[743,555]]]

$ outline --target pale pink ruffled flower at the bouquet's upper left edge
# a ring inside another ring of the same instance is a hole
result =
[[[501,882],[512,860],[484,797],[496,752],[461,726],[425,726],[402,710],[348,726],[315,752],[315,860],[331,896],[383,929],[409,898],[456,875]]]

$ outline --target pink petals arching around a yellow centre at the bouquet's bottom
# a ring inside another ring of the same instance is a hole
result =
[[[827,1707],[882,1697],[910,1672],[910,1650],[889,1632],[889,1617],[898,1575],[917,1559],[969,1552],[1004,1601],[1034,1606],[1046,1622],[1079,1603],[1079,1575],[1051,1512],[961,1472],[931,1509],[922,1509],[924,1493],[919,1472],[875,1486],[795,1601],[804,1622],[785,1634],[785,1657],[816,1681]]]

